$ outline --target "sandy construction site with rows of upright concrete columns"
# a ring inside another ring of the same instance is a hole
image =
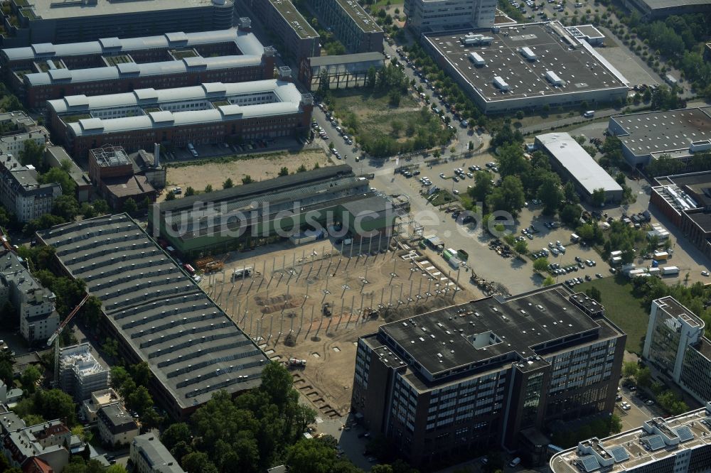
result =
[[[468,268],[452,269],[415,246],[401,241],[379,252],[328,239],[272,244],[216,256],[201,286],[272,360],[292,370],[294,385],[321,417],[336,418],[351,403],[358,337],[482,295],[469,284]]]

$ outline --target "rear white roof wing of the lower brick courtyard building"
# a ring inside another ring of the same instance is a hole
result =
[[[224,87],[224,92],[213,93],[216,88]],[[256,80],[253,82],[213,82],[191,87],[178,87],[176,89],[137,89],[133,92],[122,94],[74,95],[63,99],[48,100],[47,107],[57,114],[80,112],[94,109],[107,109],[114,107],[130,107],[145,105],[154,102],[156,105],[169,102],[185,102],[201,99],[218,99],[219,97],[232,97],[237,95],[258,94],[272,92],[279,102],[301,102],[301,92],[291,82],[278,79]],[[262,104],[264,107],[267,104]]]

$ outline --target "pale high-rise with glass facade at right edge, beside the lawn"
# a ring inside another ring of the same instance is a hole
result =
[[[700,403],[711,399],[711,341],[704,321],[675,298],[652,301],[642,357]]]

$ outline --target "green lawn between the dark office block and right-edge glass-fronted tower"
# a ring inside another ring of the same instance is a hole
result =
[[[630,281],[622,276],[595,279],[589,283],[581,284],[579,290],[584,292],[593,286],[602,293],[602,305],[607,318],[627,334],[627,351],[642,354],[642,345],[649,320],[649,308],[643,307],[642,301],[632,295]]]

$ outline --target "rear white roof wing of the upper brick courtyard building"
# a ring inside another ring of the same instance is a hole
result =
[[[237,28],[199,33],[166,33],[141,38],[102,38],[84,43],[38,43],[25,48],[6,48],[2,52],[9,60],[17,61],[47,59],[53,56],[80,56],[109,52],[115,54],[117,51],[130,53],[134,50],[154,48],[194,48],[197,45],[227,41],[235,41],[237,48],[245,55],[261,56],[264,53],[264,46],[256,36],[245,31],[238,31]]]

